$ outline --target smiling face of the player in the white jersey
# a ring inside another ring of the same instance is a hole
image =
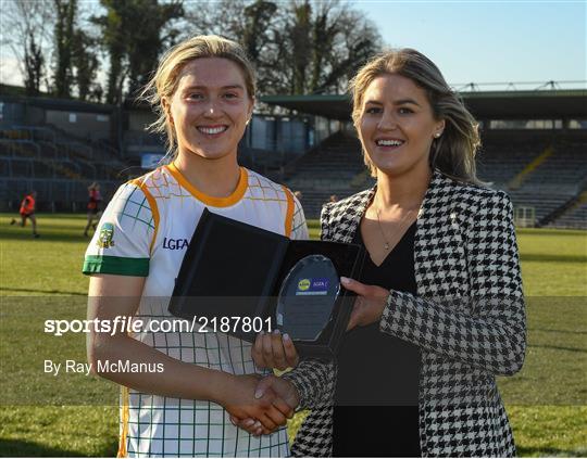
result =
[[[182,68],[177,88],[171,99],[163,100],[163,107],[179,155],[218,160],[236,157],[253,101],[236,63],[203,58]]]

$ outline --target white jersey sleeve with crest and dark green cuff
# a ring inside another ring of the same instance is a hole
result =
[[[123,184],[86,250],[83,272],[147,277],[155,224],[141,189],[133,182]]]

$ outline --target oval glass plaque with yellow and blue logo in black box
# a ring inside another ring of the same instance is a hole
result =
[[[296,341],[316,341],[332,320],[340,278],[324,255],[300,259],[282,283],[276,323]]]

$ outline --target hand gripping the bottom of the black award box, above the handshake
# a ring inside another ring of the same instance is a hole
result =
[[[257,335],[251,356],[258,368],[276,368],[280,371],[295,368],[300,361],[289,335],[282,334],[277,329],[273,333],[261,332]]]

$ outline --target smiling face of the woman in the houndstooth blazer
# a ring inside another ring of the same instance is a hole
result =
[[[430,145],[445,122],[434,118],[422,88],[401,75],[386,74],[366,88],[357,127],[377,170],[399,176],[429,168]]]

